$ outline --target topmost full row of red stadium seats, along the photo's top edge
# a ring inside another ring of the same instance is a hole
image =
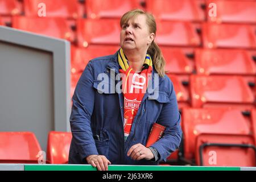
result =
[[[63,18],[120,18],[131,9],[144,9],[156,18],[200,22],[206,20],[207,12],[214,3],[217,17],[208,18],[209,22],[256,23],[255,1],[222,0],[9,0],[0,1],[0,14],[38,16],[40,3],[47,7],[47,16]]]

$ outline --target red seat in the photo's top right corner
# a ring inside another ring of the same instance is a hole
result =
[[[210,22],[217,23],[256,23],[256,2],[255,1],[216,1],[208,0],[209,3],[215,3],[217,7],[217,16],[209,17]]]

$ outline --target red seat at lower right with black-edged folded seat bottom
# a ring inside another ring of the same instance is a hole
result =
[[[255,166],[256,110],[185,109],[183,132],[185,159],[200,166]],[[217,155],[216,164],[210,156]]]

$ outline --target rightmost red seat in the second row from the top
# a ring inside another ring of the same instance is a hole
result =
[[[240,24],[203,24],[205,48],[256,48],[255,27]]]

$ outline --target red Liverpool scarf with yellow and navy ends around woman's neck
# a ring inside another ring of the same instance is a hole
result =
[[[122,48],[118,51],[119,69],[122,74],[122,92],[124,96],[124,121],[123,128],[125,132],[125,141],[130,134],[133,120],[141,105],[144,93],[148,86],[148,78],[152,72],[152,60],[150,55],[146,55],[142,71],[137,73],[129,67],[128,61]]]

